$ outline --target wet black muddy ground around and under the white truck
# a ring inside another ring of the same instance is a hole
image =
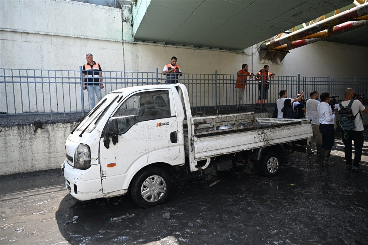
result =
[[[335,166],[294,153],[293,165],[272,178],[249,163],[217,174],[211,167],[149,209],[130,195],[78,201],[60,170],[1,176],[0,244],[366,245],[367,134],[364,172],[345,170],[342,150],[337,140]]]

